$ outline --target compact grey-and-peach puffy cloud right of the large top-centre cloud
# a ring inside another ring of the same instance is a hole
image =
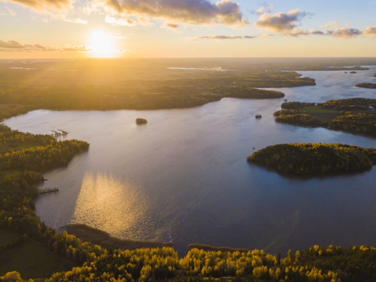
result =
[[[307,13],[300,9],[291,10],[287,13],[262,14],[256,22],[256,26],[276,33],[285,33],[296,28],[306,15]]]

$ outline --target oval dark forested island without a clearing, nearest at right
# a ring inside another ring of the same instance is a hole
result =
[[[376,164],[376,149],[345,144],[278,144],[253,153],[248,162],[299,175],[361,171]]]

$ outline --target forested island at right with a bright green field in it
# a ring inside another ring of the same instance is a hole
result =
[[[376,136],[376,99],[349,98],[322,104],[285,102],[281,107],[274,113],[277,122]]]

